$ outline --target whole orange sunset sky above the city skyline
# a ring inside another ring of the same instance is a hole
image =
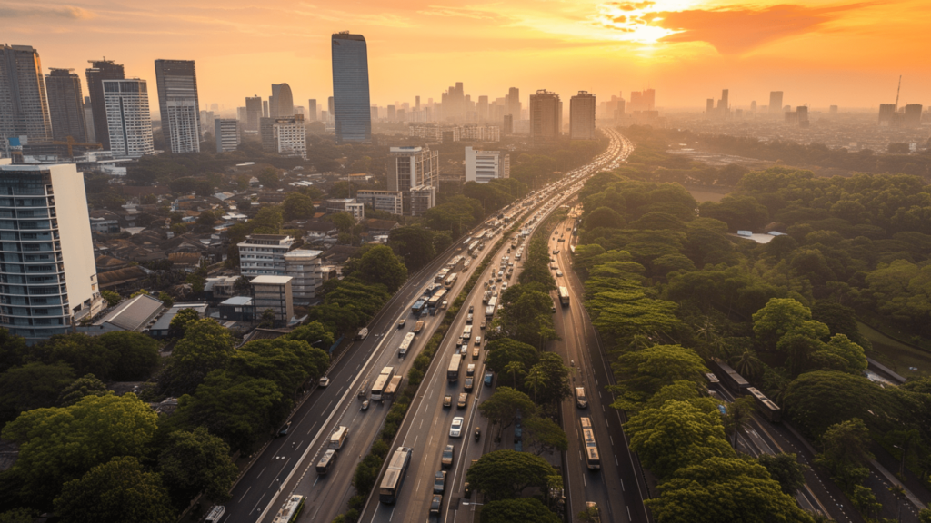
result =
[[[366,37],[381,106],[439,101],[464,82],[472,100],[519,87],[525,104],[543,88],[603,101],[652,87],[668,109],[702,109],[722,88],[735,108],[771,90],[785,104],[877,108],[895,101],[899,75],[900,105],[931,104],[928,0],[0,0],[0,26],[46,71],[82,78],[106,57],[154,90],[154,60],[196,60],[201,105],[226,110],[282,82],[295,105],[325,105],[339,31]]]

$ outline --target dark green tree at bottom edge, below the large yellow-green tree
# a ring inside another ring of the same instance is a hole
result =
[[[171,523],[176,516],[161,476],[144,472],[132,456],[115,457],[65,483],[55,512],[75,523]]]

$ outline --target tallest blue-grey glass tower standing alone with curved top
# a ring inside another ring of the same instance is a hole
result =
[[[361,34],[331,38],[336,141],[371,141],[369,51]]]

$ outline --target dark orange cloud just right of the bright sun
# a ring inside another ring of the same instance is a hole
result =
[[[664,42],[707,42],[724,55],[739,55],[788,36],[815,33],[845,11],[873,5],[805,7],[783,4],[762,9],[724,7],[666,11],[655,13],[649,23],[676,32],[663,37]]]

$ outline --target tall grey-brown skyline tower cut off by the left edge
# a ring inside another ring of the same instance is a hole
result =
[[[39,52],[30,46],[0,46],[0,140],[52,138],[46,83]]]

